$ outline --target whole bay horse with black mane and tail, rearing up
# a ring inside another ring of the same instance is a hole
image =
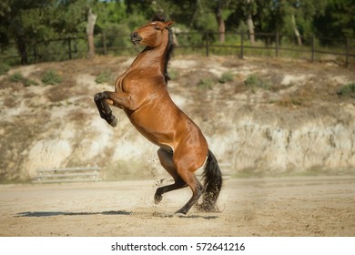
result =
[[[145,46],[143,51],[117,77],[115,91],[97,93],[94,101],[100,117],[109,125],[117,126],[117,117],[112,114],[110,106],[121,108],[132,125],[159,147],[160,164],[174,183],[157,188],[156,204],[168,191],[189,187],[192,197],[176,214],[186,215],[194,205],[203,211],[216,211],[222,187],[218,161],[198,125],[177,107],[167,92],[167,62],[173,50],[173,24],[174,21],[156,16],[132,32],[132,43]],[[204,168],[204,185],[195,175],[199,168]],[[202,202],[198,203],[201,196]]]

